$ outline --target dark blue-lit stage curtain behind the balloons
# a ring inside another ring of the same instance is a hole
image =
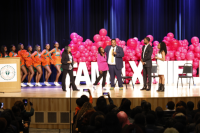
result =
[[[0,4],[1,45],[68,45],[76,32],[93,40],[101,28],[111,38],[142,40],[151,34],[162,41],[200,36],[199,0],[6,0]],[[55,69],[50,78],[55,79]]]

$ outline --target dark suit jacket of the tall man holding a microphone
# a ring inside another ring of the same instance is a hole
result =
[[[107,62],[109,59],[109,55],[110,55],[110,49],[111,49],[111,45],[110,46],[106,46],[106,48],[104,49],[104,51],[107,53]],[[116,67],[117,69],[122,69],[123,68],[123,59],[122,57],[124,57],[124,51],[122,49],[122,47],[120,46],[116,46],[116,51],[117,54],[115,55],[115,63],[116,63]]]

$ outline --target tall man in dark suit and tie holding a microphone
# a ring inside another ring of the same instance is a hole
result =
[[[111,40],[111,46],[107,46],[104,51],[107,54],[107,62],[109,67],[109,73],[111,78],[111,88],[113,90],[115,87],[114,79],[117,76],[119,89],[123,90],[121,70],[123,68],[124,51],[121,47],[116,45],[116,40]]]

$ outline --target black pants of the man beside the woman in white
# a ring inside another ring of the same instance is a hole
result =
[[[144,87],[147,87],[147,75],[148,75],[148,89],[151,89],[151,67],[143,67]]]

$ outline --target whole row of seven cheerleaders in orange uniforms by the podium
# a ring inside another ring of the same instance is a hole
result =
[[[46,86],[50,86],[48,83],[48,79],[52,73],[50,65],[54,65],[57,70],[57,75],[54,84],[56,86],[60,86],[58,83],[58,79],[61,74],[61,54],[59,49],[59,43],[54,42],[54,49],[50,50],[50,45],[46,44],[45,49],[41,51],[41,47],[39,45],[35,46],[35,51],[33,52],[32,46],[28,45],[27,50],[24,49],[24,45],[22,43],[18,44],[18,52],[16,52],[15,45],[10,46],[10,53],[7,52],[7,47],[2,46],[0,52],[0,58],[7,57],[20,57],[20,66],[21,66],[21,86],[25,87],[26,85],[23,83],[26,76],[28,76],[27,85],[32,87],[31,80],[35,74],[34,68],[36,69],[35,76],[35,86],[42,86],[40,84],[40,78],[43,74],[42,67],[45,69],[45,82]],[[28,70],[28,71],[27,71]]]

